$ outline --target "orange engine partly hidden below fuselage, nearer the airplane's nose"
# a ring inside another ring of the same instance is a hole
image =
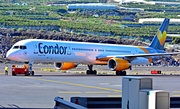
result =
[[[73,62],[56,62],[54,63],[54,67],[58,70],[69,70],[77,67],[77,65]]]

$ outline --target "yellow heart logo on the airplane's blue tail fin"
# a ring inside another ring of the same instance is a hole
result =
[[[164,31],[164,32],[162,33],[160,30],[158,30],[158,32],[157,32],[157,37],[158,37],[158,40],[159,40],[161,46],[164,45],[164,43],[165,43],[165,41],[166,41],[166,36],[167,36],[167,35],[166,35],[166,31]]]

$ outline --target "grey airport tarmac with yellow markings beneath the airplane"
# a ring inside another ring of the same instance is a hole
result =
[[[115,76],[107,66],[95,67],[98,75],[86,75],[87,66],[82,65],[70,71],[54,70],[53,65],[34,65],[34,76],[12,76],[10,64],[9,75],[4,75],[4,67],[0,64],[0,108],[53,108],[56,96],[67,101],[71,97],[122,96],[122,76]],[[150,75],[154,69],[163,69],[166,74]],[[153,78],[153,89],[180,97],[179,71],[180,67],[138,66],[127,72]]]

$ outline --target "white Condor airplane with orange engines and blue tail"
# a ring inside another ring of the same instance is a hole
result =
[[[132,65],[150,64],[153,61],[180,54],[164,50],[170,19],[165,18],[149,46],[131,46],[60,40],[25,39],[15,43],[6,58],[21,62],[54,62],[59,70],[69,70],[86,64],[86,74],[97,74],[93,65],[107,65],[116,75],[126,75]]]

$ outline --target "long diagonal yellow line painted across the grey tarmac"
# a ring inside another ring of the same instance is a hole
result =
[[[92,89],[99,89],[99,90],[106,90],[106,91],[113,91],[113,92],[121,92],[121,90],[116,90],[116,89],[111,89],[111,88],[103,88],[103,87],[98,87],[98,86],[88,86],[88,85],[84,85],[84,84],[76,84],[76,83],[71,83],[71,82],[60,82],[60,81],[55,81],[55,80],[47,80],[47,79],[33,78],[33,77],[25,77],[25,78],[41,80],[41,81],[46,81],[46,82],[52,82],[52,83],[58,83],[58,84],[79,86],[79,87],[85,87],[85,88],[92,88]]]

